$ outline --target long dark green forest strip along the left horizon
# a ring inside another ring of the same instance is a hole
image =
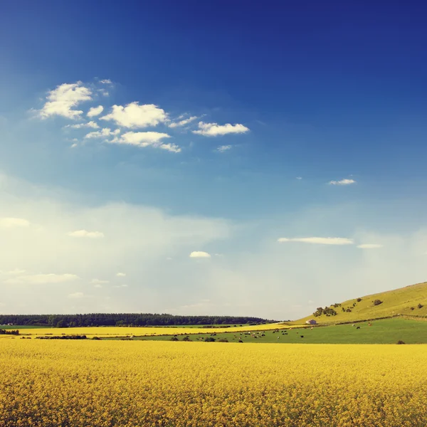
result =
[[[270,323],[260,317],[245,316],[174,316],[143,313],[95,313],[88,315],[0,315],[0,325],[34,325],[46,327],[78,326],[179,326],[179,325],[247,325]]]

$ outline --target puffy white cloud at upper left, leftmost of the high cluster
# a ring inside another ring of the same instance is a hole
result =
[[[92,91],[86,88],[82,82],[63,83],[56,89],[48,92],[47,102],[38,112],[42,119],[59,115],[68,119],[78,119],[83,111],[73,110],[80,102],[92,100]]]

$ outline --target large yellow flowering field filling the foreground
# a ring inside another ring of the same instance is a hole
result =
[[[0,426],[426,426],[423,345],[0,342]]]

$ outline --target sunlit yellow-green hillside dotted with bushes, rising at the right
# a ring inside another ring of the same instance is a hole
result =
[[[367,295],[359,297],[359,299],[360,301],[356,297],[341,304],[330,305],[328,308],[335,310],[337,315],[322,314],[315,317],[311,313],[307,317],[291,323],[298,325],[309,319],[315,319],[320,324],[356,322],[357,320],[378,319],[396,315],[427,317],[427,282]],[[381,301],[381,304],[374,305],[375,300]],[[343,311],[343,309],[347,311]]]

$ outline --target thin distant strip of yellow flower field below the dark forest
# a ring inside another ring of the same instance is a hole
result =
[[[295,326],[291,326],[294,327]],[[175,335],[175,334],[212,334],[214,332],[245,332],[259,330],[285,329],[288,325],[283,323],[269,323],[268,325],[236,326],[236,327],[65,327],[65,328],[36,328],[21,329],[21,335],[86,335],[87,337],[123,337],[126,335]]]

